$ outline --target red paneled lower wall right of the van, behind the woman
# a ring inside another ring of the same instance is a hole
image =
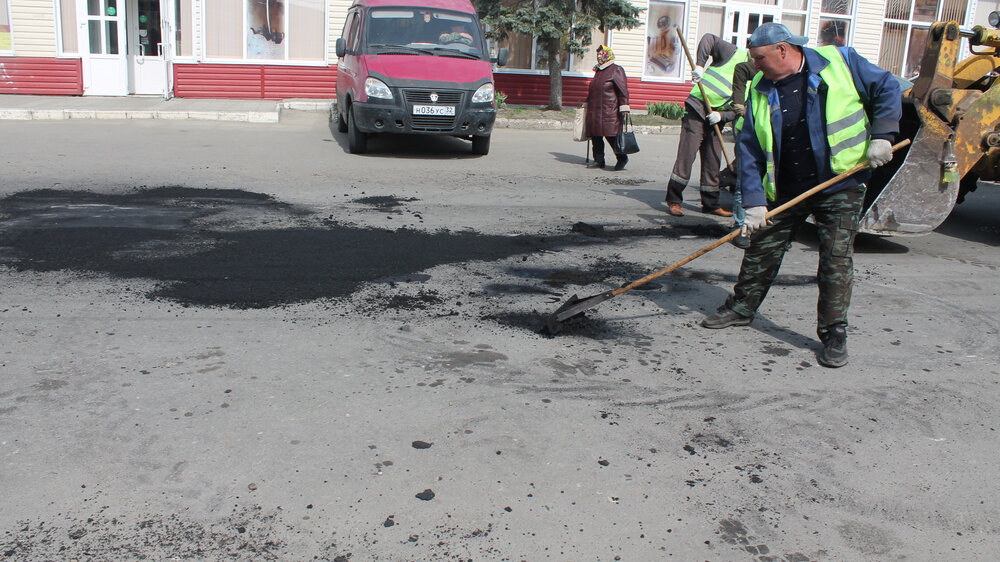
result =
[[[507,94],[507,103],[524,105],[548,105],[549,76],[541,74],[493,75],[498,92]],[[587,97],[590,78],[563,76],[563,105],[579,105]],[[629,105],[644,108],[656,101],[684,101],[691,92],[691,83],[664,84],[643,82],[639,78],[628,79]]]

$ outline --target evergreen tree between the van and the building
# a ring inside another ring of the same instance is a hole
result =
[[[549,109],[562,109],[563,56],[582,55],[591,32],[632,29],[642,24],[641,9],[628,0],[475,0],[488,35],[503,40],[509,33],[538,38],[548,54]]]

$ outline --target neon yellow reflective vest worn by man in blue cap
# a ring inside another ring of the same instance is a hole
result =
[[[825,115],[826,142],[831,155],[830,168],[835,174],[839,174],[850,170],[867,157],[868,114],[865,113],[861,96],[854,87],[851,70],[837,47],[819,47],[815,51],[829,61],[826,68],[819,72],[819,76],[827,86]],[[761,183],[764,185],[764,195],[767,200],[774,201],[777,189],[774,178],[774,131],[771,127],[771,115],[780,112],[781,106],[776,89],[772,88],[767,96],[757,90],[757,84],[763,76],[763,73],[757,73],[754,77],[750,84],[750,96],[753,98],[754,132],[757,133],[757,142],[760,143],[766,160]]]

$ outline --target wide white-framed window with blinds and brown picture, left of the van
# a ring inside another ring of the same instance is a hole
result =
[[[206,58],[320,62],[325,51],[323,0],[205,0]]]

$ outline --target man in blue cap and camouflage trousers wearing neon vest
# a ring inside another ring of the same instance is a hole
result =
[[[774,218],[774,208],[865,161],[892,159],[902,113],[899,83],[850,47],[803,47],[806,38],[767,23],[750,36],[759,73],[750,85],[740,152],[740,187],[751,235],[734,295],[706,328],[753,320],[795,232],[811,214],[819,237],[818,354],[825,367],[847,364],[847,309],[854,279],[854,236],[871,172],[844,179]]]

